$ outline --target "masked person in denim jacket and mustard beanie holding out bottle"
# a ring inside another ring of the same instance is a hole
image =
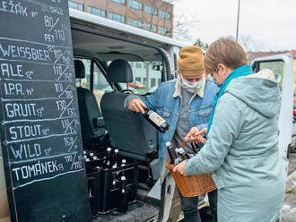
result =
[[[179,51],[177,80],[162,83],[148,98],[126,98],[125,104],[130,110],[144,114],[143,107],[147,107],[170,124],[169,130],[159,133],[160,171],[165,164],[165,142],[171,141],[179,148],[190,129],[190,132],[199,132],[208,124],[218,87],[213,81],[206,81],[203,63],[204,55],[200,47],[183,47]],[[190,144],[187,144],[185,149],[193,153]],[[216,205],[216,192],[212,194],[213,198],[211,194],[209,196],[210,201],[213,200],[211,205],[215,211],[216,207],[213,205]],[[197,210],[198,197],[185,198],[180,195],[180,198],[184,221],[200,221]],[[213,215],[215,214],[216,212],[213,212]]]

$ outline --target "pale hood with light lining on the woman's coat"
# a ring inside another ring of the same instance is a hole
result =
[[[262,70],[232,80],[225,93],[230,93],[261,115],[271,118],[280,113],[280,77],[274,76],[271,70]]]

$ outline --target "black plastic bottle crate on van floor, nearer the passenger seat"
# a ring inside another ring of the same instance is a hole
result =
[[[122,173],[126,175],[126,189],[128,204],[135,202],[137,189],[137,163],[127,163],[126,166],[119,166],[114,169],[101,170],[99,213],[107,214],[118,209],[121,199],[121,186],[113,187],[113,175],[120,177]]]

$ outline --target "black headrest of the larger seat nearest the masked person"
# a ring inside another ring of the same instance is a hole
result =
[[[109,64],[107,69],[107,81],[109,82],[132,82],[133,71],[130,64],[123,59],[117,59]]]

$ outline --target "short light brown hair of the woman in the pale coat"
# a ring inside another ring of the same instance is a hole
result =
[[[230,38],[219,38],[205,52],[205,73],[213,73],[218,64],[235,70],[241,65],[248,64],[248,60],[238,42]]]

